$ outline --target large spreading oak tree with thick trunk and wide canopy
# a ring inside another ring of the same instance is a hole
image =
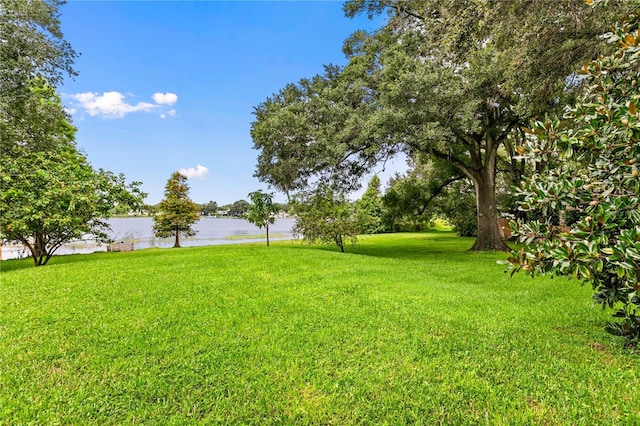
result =
[[[384,11],[384,27],[347,40],[345,68],[329,67],[256,108],[258,177],[289,190],[322,175],[353,182],[400,150],[434,156],[474,184],[473,249],[505,250],[500,158],[514,166],[522,126],[571,96],[573,70],[602,48],[595,35],[605,12],[572,0],[345,4],[348,16]]]

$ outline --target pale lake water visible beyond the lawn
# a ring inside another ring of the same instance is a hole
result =
[[[109,219],[111,231],[109,237],[115,242],[132,242],[134,250],[150,247],[173,247],[174,238],[155,238],[153,236],[153,219],[150,217],[126,217]],[[289,240],[294,238],[294,219],[276,219],[269,225],[271,241]],[[266,231],[247,222],[244,219],[209,218],[203,217],[193,226],[196,235],[180,238],[182,247],[208,246],[218,244],[237,244],[249,241],[265,241]],[[106,244],[98,244],[90,237],[84,240],[72,241],[60,247],[56,255],[74,253],[93,253],[107,251]],[[16,259],[28,257],[29,251],[22,245],[5,245],[2,247],[2,259]]]

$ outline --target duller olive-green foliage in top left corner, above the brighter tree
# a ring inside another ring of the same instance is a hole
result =
[[[64,125],[66,114],[47,99],[65,75],[75,76],[76,52],[60,30],[60,0],[0,0],[0,149],[9,155],[16,145],[48,145],[51,129]],[[43,95],[42,91],[49,92]],[[39,132],[49,127],[46,132]]]

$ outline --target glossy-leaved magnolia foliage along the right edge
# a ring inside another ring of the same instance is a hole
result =
[[[637,5],[637,3],[636,3]],[[535,122],[520,148],[533,161],[560,159],[522,190],[523,210],[571,212],[570,229],[550,220],[520,224],[513,271],[572,276],[615,307],[608,330],[640,341],[640,18],[637,10],[605,35],[616,50],[580,70],[584,91],[564,121]]]

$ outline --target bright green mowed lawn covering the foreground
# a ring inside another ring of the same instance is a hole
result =
[[[2,263],[1,424],[640,424],[565,279],[447,232]]]

